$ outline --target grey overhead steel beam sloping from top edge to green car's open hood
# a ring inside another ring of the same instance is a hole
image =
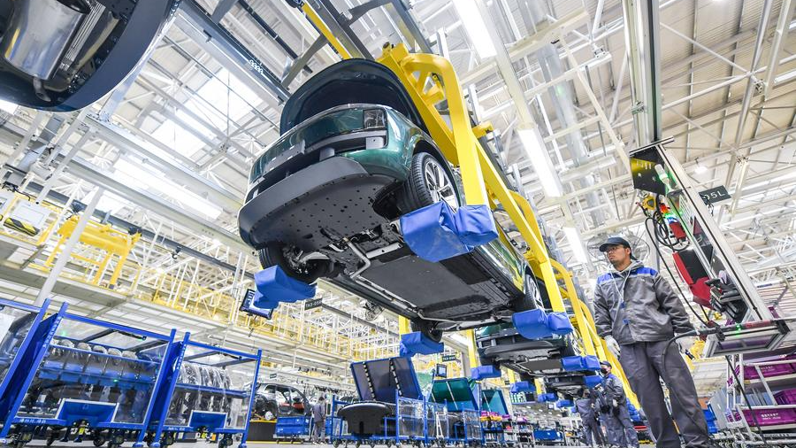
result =
[[[180,4],[177,26],[193,39],[202,50],[216,58],[230,73],[246,84],[259,97],[270,99],[273,107],[287,101],[290,92],[279,77],[263,66],[241,42],[224,27],[214,22],[195,0],[184,0]]]

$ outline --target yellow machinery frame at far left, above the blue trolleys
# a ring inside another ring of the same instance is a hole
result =
[[[50,257],[44,261],[44,266],[53,266],[60,248],[72,235],[74,228],[77,227],[79,218],[78,215],[73,215],[58,228],[56,232],[58,235],[56,247],[50,253]],[[121,270],[125,266],[130,251],[133,251],[135,243],[140,238],[140,233],[130,235],[112,228],[111,224],[88,221],[88,226],[80,234],[80,243],[88,246],[86,248],[88,251],[83,251],[84,253],[73,251],[72,258],[80,261],[81,264],[88,265],[88,269],[94,272],[89,281],[90,283],[96,286],[100,286],[102,283],[103,286],[113,288],[119,281],[119,274],[121,274]],[[115,261],[116,264],[111,276],[107,282],[103,282],[103,277],[112,261]]]

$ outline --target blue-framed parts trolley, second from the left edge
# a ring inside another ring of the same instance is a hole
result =
[[[172,344],[165,390],[157,397],[146,441],[152,448],[196,433],[219,448],[240,437],[246,447],[262,351],[234,351],[190,340]]]

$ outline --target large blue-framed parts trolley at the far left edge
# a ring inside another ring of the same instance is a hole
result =
[[[174,330],[165,336],[97,321],[63,305],[31,333],[0,405],[0,438],[17,447],[34,436],[142,446]]]

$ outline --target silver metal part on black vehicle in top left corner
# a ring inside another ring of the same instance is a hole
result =
[[[0,41],[3,58],[34,77],[34,85],[50,80],[83,19],[88,0],[15,0]],[[39,89],[37,89],[38,91]],[[43,90],[42,90],[43,93]]]

